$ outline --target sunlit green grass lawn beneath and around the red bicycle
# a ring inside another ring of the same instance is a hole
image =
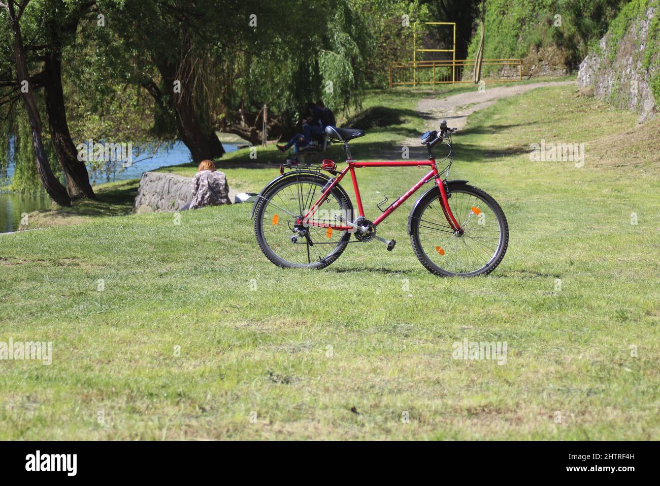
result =
[[[365,108],[401,117],[352,143],[354,157],[399,158],[422,96],[370,97]],[[0,236],[0,341],[53,342],[51,366],[0,361],[0,439],[657,439],[659,132],[570,86],[473,114],[450,179],[494,196],[511,231],[480,278],[418,263],[411,200],[378,228],[392,253],[351,244],[320,271],[267,261],[248,204],[180,216],[101,204],[75,225]],[[584,167],[530,161],[542,139],[585,143]],[[240,190],[278,175],[247,151],[222,163]],[[361,169],[367,217],[422,173]],[[135,182],[102,200],[122,191]],[[506,342],[506,364],[453,359],[464,339]]]

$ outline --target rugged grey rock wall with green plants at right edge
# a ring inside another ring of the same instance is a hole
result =
[[[658,112],[651,84],[660,75],[660,59],[657,54],[650,56],[650,62],[645,57],[653,47],[650,44],[657,42],[649,32],[659,11],[657,6],[648,7],[636,15],[618,42],[611,38],[612,32],[605,34],[599,47],[581,62],[578,72],[580,87],[593,90],[593,95],[618,108],[638,112],[640,122]]]

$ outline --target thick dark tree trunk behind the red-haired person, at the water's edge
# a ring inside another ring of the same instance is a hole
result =
[[[169,61],[157,63],[158,71],[163,79],[166,89],[174,90],[174,82],[180,81],[181,92],[172,92],[172,106],[176,111],[176,128],[179,138],[188,147],[193,161],[204,159],[217,159],[222,157],[224,148],[218,140],[215,130],[211,128],[205,132],[197,116],[193,100],[191,79],[193,77],[193,60],[191,59],[190,35],[183,32],[182,52],[178,69]]]

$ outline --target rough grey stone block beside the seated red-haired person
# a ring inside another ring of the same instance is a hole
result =
[[[180,210],[193,198],[192,181],[192,177],[162,172],[145,172],[137,190],[135,210],[137,212]],[[228,198],[229,188],[226,182],[224,187]]]

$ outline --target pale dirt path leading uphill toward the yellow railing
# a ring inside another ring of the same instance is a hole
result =
[[[498,99],[526,93],[531,89],[546,86],[564,86],[575,84],[575,81],[543,81],[529,85],[511,85],[488,88],[480,93],[475,87],[474,91],[451,95],[449,97],[424,98],[417,104],[417,111],[424,116],[424,130],[438,130],[440,120],[447,120],[449,128],[463,128],[467,117],[477,110],[490,106]],[[418,138],[408,139],[402,145],[419,143]]]

